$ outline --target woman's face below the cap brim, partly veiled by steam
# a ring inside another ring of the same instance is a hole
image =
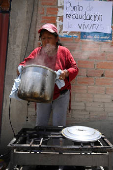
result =
[[[56,46],[58,42],[58,37],[55,37],[53,34],[45,30],[41,36],[42,46],[45,47],[47,44]]]

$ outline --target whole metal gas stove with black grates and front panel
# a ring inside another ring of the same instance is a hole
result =
[[[9,170],[16,165],[113,169],[113,145],[103,134],[94,142],[76,142],[62,135],[64,128],[35,127],[19,131],[8,144],[11,149]]]

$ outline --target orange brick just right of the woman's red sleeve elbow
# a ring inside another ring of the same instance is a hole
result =
[[[79,60],[78,67],[81,68],[94,68],[94,61]]]

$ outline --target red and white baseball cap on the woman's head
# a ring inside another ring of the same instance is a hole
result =
[[[43,29],[51,32],[51,33],[57,33],[58,34],[58,30],[56,28],[56,26],[54,24],[50,24],[50,23],[47,23],[47,24],[44,24],[39,30],[38,30],[38,33],[40,33]]]

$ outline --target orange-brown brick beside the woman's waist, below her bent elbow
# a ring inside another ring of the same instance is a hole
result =
[[[72,85],[71,86],[71,91],[72,93],[87,93],[87,86],[77,86],[77,85]]]

